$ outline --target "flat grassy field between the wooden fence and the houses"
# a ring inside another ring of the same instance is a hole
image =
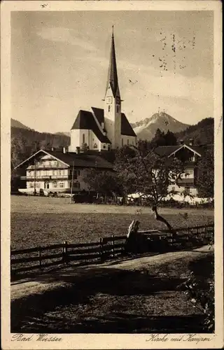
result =
[[[180,214],[188,213],[188,221]],[[160,210],[174,228],[214,222],[211,209]],[[126,235],[133,219],[140,230],[165,228],[155,221],[149,207],[103,204],[70,204],[66,198],[11,196],[11,246],[29,248],[47,244],[97,241],[100,237]]]

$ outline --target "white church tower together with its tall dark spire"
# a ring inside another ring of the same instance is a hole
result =
[[[113,36],[111,38],[111,55],[109,72],[106,82],[106,93],[104,97],[104,124],[106,136],[111,141],[111,148],[121,146],[121,100],[118,86],[118,71],[116,64],[116,51]]]

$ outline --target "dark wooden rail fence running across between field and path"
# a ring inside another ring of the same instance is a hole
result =
[[[188,246],[207,244],[214,235],[214,224],[176,229],[173,237],[167,230],[139,231],[137,237],[144,237],[146,251],[170,251]],[[125,236],[100,238],[99,241],[80,244],[52,244],[10,251],[11,275],[34,269],[46,269],[69,262],[104,262],[125,253]]]

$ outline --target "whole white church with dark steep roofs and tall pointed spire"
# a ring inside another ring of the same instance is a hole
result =
[[[92,107],[91,111],[80,110],[71,127],[69,152],[78,148],[90,151],[111,151],[125,145],[136,145],[137,135],[122,112],[114,36],[111,38],[109,72],[104,95],[104,109]]]

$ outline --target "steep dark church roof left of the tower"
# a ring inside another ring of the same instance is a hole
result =
[[[89,111],[83,111],[80,109],[78,116],[71,127],[71,130],[75,129],[92,130],[100,142],[104,142],[104,144],[111,144],[111,141],[99,129],[93,114]]]

